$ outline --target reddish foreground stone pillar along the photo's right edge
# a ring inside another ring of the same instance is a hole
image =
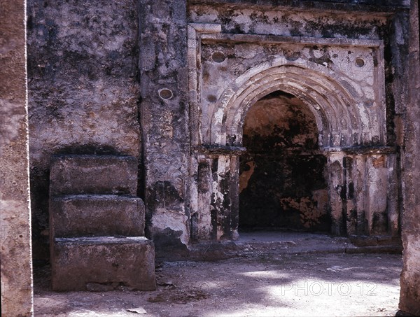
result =
[[[400,309],[420,315],[420,59],[419,1],[411,1],[409,35],[409,103],[402,155],[402,246],[403,261],[400,280]]]

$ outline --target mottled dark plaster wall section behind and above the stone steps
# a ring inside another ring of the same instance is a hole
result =
[[[34,250],[42,259],[50,156],[141,156],[137,1],[29,0],[27,23]]]

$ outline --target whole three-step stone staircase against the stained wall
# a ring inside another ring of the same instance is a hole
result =
[[[50,162],[53,290],[155,290],[137,160],[54,155]]]

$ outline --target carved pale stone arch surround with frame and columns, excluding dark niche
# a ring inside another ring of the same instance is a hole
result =
[[[233,221],[225,234],[220,232],[222,219],[228,223],[236,218],[235,206],[249,196],[244,196],[252,177],[248,168],[255,173],[258,164],[244,162],[239,176],[232,169],[237,162],[234,148],[245,146],[244,120],[255,102],[282,90],[310,110],[318,134],[314,143],[321,157],[327,157],[328,188],[314,191],[331,223],[327,231],[398,236],[398,152],[387,146],[401,140],[400,126],[393,122],[400,124],[395,109],[403,108],[404,85],[393,74],[405,69],[407,37],[402,30],[407,10],[246,3],[190,1],[188,6],[189,25],[195,30],[188,33],[191,140],[224,148],[218,155],[197,155],[190,165],[190,173],[199,175],[190,187],[193,229],[211,228],[213,239],[232,237],[237,230]],[[393,99],[394,94],[402,97]],[[275,117],[275,111],[266,111]],[[323,167],[319,169],[323,174]],[[209,178],[211,188],[206,185]],[[241,192],[242,200],[234,192]],[[305,209],[313,218],[319,209],[306,208],[314,199],[308,197],[300,197],[303,202],[283,197],[281,202]],[[193,230],[192,237],[209,235]]]

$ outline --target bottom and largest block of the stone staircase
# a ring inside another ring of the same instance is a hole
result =
[[[52,290],[155,290],[155,248],[145,237],[55,238]]]

